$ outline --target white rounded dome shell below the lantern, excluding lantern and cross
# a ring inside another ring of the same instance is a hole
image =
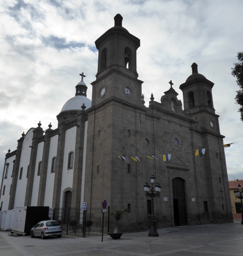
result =
[[[61,112],[66,110],[81,110],[81,106],[86,106],[86,109],[91,107],[91,100],[83,95],[77,95],[73,98],[70,98],[62,107]]]

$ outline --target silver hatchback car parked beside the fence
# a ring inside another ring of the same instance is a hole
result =
[[[62,228],[56,220],[43,220],[38,222],[30,231],[30,237],[45,237],[56,235],[57,237],[62,236]]]

